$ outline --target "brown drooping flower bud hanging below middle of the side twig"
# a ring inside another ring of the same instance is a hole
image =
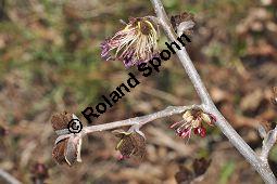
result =
[[[116,150],[121,152],[119,159],[129,158],[130,156],[142,158],[144,156],[146,139],[140,132],[115,130],[113,133],[121,139],[115,147]]]

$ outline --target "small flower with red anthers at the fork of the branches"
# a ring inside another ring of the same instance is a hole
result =
[[[206,129],[203,122],[213,126],[215,121],[213,115],[205,114],[201,109],[188,109],[182,115],[182,120],[174,122],[171,128],[174,128],[181,139],[190,139],[192,131],[196,135],[204,137],[206,135]]]

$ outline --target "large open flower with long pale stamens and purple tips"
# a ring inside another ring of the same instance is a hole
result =
[[[104,60],[117,58],[126,67],[146,63],[158,54],[158,27],[150,17],[129,18],[124,29],[101,43],[101,49]]]

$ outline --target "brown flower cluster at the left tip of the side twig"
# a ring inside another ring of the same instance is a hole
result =
[[[53,115],[51,118],[51,123],[54,131],[67,129],[67,123],[74,118],[74,114],[62,113]],[[56,141],[52,157],[59,163],[67,163],[72,166],[76,161],[81,162],[80,159],[80,147],[81,147],[81,137],[79,134],[66,134],[61,135],[63,139]]]

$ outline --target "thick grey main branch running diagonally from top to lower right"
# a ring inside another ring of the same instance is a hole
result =
[[[153,8],[155,10],[156,16],[160,19],[166,36],[171,41],[177,41],[176,34],[169,23],[169,19],[164,11],[161,0],[151,0]],[[261,174],[264,182],[275,184],[276,178],[273,174],[267,162],[261,160],[254,150],[242,140],[242,137],[235,131],[235,129],[228,123],[224,116],[218,111],[214,105],[212,98],[210,97],[194,65],[192,64],[186,49],[177,51],[177,56],[182,64],[187,75],[189,76],[192,84],[196,88],[202,103],[204,104],[204,109],[213,114],[217,121],[215,124],[222,130],[222,132],[229,139],[230,143],[240,152],[240,154],[253,166],[253,168]]]

